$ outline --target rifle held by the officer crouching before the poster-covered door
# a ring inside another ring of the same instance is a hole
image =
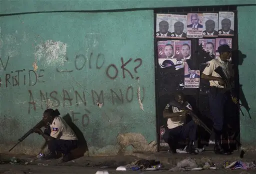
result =
[[[188,110],[189,116],[192,117],[192,119],[195,120],[195,122],[197,122],[199,126],[201,126],[205,131],[207,131],[211,135],[212,131],[191,111],[191,109],[188,107],[187,102],[181,105],[177,101],[172,100],[168,104],[170,106],[177,107],[179,110]]]

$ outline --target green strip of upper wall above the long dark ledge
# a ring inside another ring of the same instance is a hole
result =
[[[1,0],[1,13],[256,4],[255,0]]]

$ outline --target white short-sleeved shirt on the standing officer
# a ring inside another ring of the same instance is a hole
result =
[[[230,62],[224,62],[219,57],[216,59],[212,59],[208,62],[207,66],[203,70],[203,74],[205,75],[211,75],[213,77],[220,77],[214,69],[216,69],[218,66],[220,66],[225,73],[227,79],[229,79],[231,76],[233,77],[233,69],[232,64]],[[223,86],[218,84],[218,81],[216,80],[209,80],[210,86],[215,86],[217,88],[223,88]]]

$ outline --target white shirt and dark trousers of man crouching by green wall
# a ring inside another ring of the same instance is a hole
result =
[[[61,152],[66,155],[77,147],[78,139],[74,131],[59,116],[56,116],[53,119],[52,124],[49,124],[49,127],[45,129],[44,134],[54,138],[54,140],[48,142],[50,153]]]

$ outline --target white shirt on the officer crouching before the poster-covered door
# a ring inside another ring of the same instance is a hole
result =
[[[172,111],[173,113],[177,113],[177,112],[182,112],[182,110],[179,110],[177,107],[175,106],[170,106],[169,104],[167,104],[165,106],[165,109],[164,110],[169,110],[169,108],[171,107],[171,110],[170,112]],[[187,103],[187,106],[186,106],[188,109],[192,110],[192,107],[189,103]],[[182,115],[179,115],[179,117],[181,117],[181,120],[180,121],[177,121],[177,122],[173,122],[171,121],[170,118],[167,119],[167,127],[168,129],[173,129],[173,128],[176,128],[178,126],[181,126],[185,123],[186,121],[186,117],[182,116]]]

